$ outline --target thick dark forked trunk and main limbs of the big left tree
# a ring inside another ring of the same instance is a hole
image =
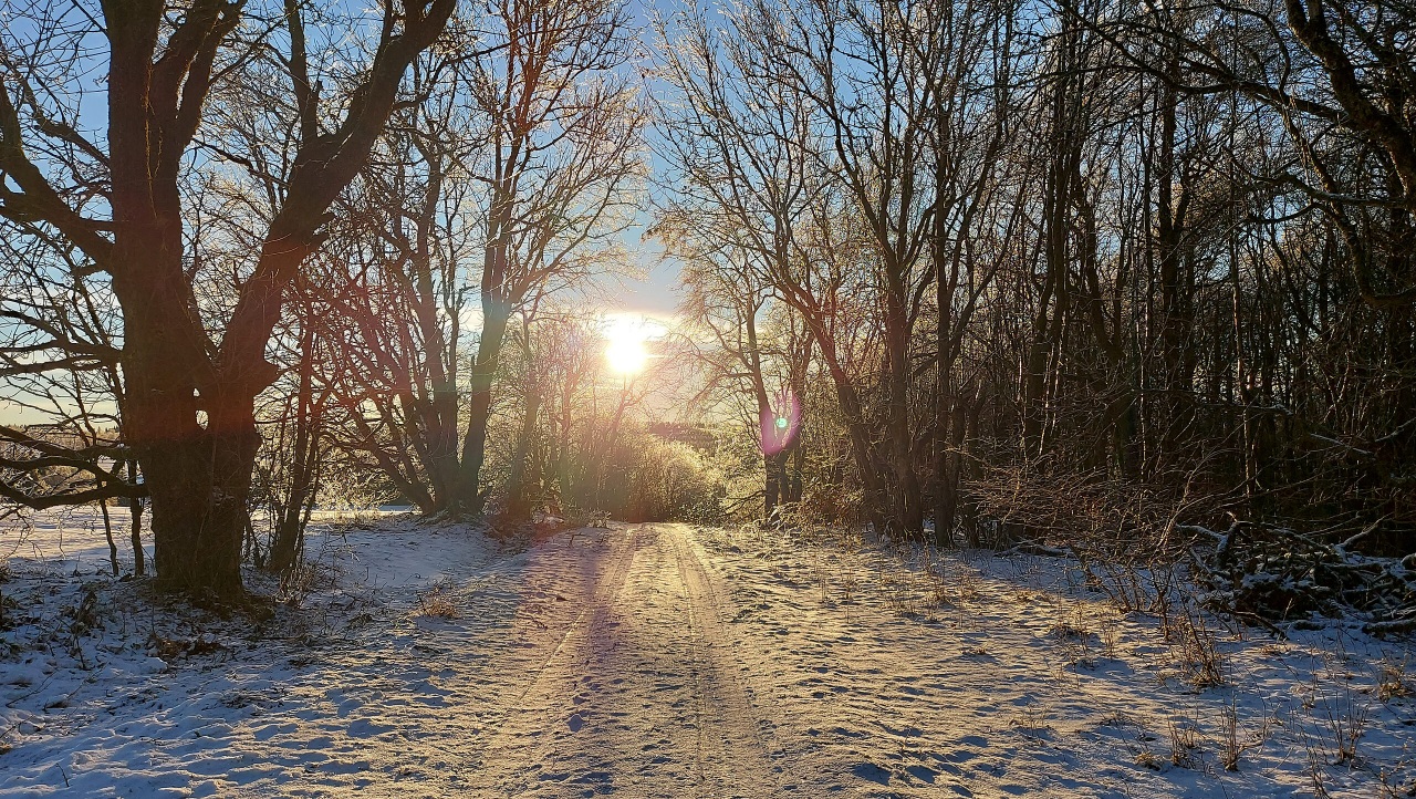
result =
[[[300,140],[255,269],[224,317],[219,347],[194,293],[198,269],[187,261],[181,176],[242,4],[103,4],[103,21],[95,24],[109,45],[106,221],[84,217],[30,162],[8,88],[0,86],[0,171],[7,181],[0,211],[13,215],[13,197],[41,198],[24,212],[52,224],[113,278],[123,322],[123,438],[152,499],[160,585],[198,598],[244,596],[241,543],[259,445],[253,402],[275,380],[265,348],[285,290],[323,241],[317,231],[330,204],[368,159],[404,72],[443,31],[453,7],[453,0],[387,4],[372,62],[350,86],[337,125],[320,133],[324,115],[310,92],[304,28],[297,6],[287,4],[286,65]]]

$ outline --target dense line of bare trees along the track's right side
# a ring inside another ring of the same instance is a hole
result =
[[[762,513],[1112,557],[1232,523],[1412,551],[1413,26],[1325,0],[660,24],[657,232],[707,397],[763,441],[806,408],[763,449]]]

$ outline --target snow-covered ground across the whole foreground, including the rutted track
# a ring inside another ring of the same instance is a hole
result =
[[[95,518],[0,531],[0,796],[1416,796],[1409,642],[1167,636],[1061,560],[327,520],[253,620]]]

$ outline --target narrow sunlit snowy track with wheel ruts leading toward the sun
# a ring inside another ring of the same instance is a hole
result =
[[[589,578],[558,594],[579,606],[573,620],[532,635],[544,663],[498,700],[504,720],[477,769],[489,796],[780,795],[722,589],[685,530],[633,526],[600,541],[581,544],[607,550]]]

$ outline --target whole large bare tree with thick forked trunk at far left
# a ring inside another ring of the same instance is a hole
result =
[[[42,225],[112,275],[122,309],[123,435],[152,496],[159,578],[239,598],[259,445],[255,397],[275,378],[265,348],[286,288],[319,249],[327,208],[358,173],[404,71],[442,33],[453,0],[387,4],[367,54],[333,96],[312,68],[304,11],[295,3],[265,20],[224,0],[193,0],[178,14],[160,3],[37,10],[41,24],[11,28],[4,45],[0,215]],[[299,109],[290,171],[234,302],[204,314],[194,293],[202,262],[187,238],[181,181],[212,86],[253,52],[278,47],[282,40],[263,33],[272,28],[286,34],[282,62]],[[86,55],[91,42],[99,55]],[[93,62],[106,75],[102,88],[86,82]],[[79,101],[98,91],[106,122],[84,135]]]

